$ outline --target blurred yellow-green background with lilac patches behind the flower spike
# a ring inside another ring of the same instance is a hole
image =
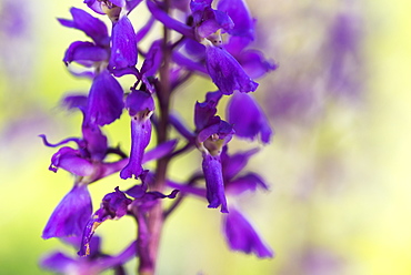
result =
[[[87,40],[56,20],[69,18],[71,4],[86,9],[81,1],[0,1],[0,274],[48,274],[38,266],[42,255],[74,253],[40,237],[72,179],[48,171],[54,150],[37,138],[43,133],[57,142],[80,134],[80,115],[58,106],[66,92],[90,86],[61,62],[70,42]],[[411,274],[411,2],[255,0],[249,6],[261,38],[255,47],[280,63],[259,80],[255,93],[277,134],[248,166],[264,176],[270,192],[238,203],[277,256],[229,252],[221,214],[190,198],[166,225],[159,274]],[[348,73],[360,86],[353,95],[323,89],[321,64],[329,55],[322,47],[340,12],[359,20],[359,59]],[[314,100],[274,110],[295,80],[295,100]],[[204,86],[214,89],[200,79],[183,88],[183,102],[176,100],[188,120]],[[122,118],[104,128],[123,149],[130,145],[128,123]],[[200,163],[198,154],[192,157]],[[172,174],[183,180],[197,169],[191,163],[181,160]],[[91,185],[94,207],[121,184],[113,175]],[[127,217],[98,230],[107,252],[121,251],[134,232]],[[128,268],[133,271],[136,261]]]

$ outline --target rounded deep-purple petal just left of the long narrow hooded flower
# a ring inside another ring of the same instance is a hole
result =
[[[91,124],[106,125],[119,119],[123,108],[123,90],[108,71],[94,78],[90,89],[87,119]]]

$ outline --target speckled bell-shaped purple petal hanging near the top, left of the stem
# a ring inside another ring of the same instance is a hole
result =
[[[127,16],[113,26],[111,58],[109,68],[122,69],[137,64],[137,39],[132,24]]]

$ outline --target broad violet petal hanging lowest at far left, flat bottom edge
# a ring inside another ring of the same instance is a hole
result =
[[[51,214],[42,237],[80,236],[91,212],[91,198],[87,185],[74,185]]]

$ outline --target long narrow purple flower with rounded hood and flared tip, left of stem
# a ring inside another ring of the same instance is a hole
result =
[[[129,163],[120,172],[123,180],[132,175],[137,179],[143,171],[141,162],[151,139],[150,116],[154,111],[154,101],[149,92],[132,90],[127,98],[126,108],[131,116],[131,152]]]

